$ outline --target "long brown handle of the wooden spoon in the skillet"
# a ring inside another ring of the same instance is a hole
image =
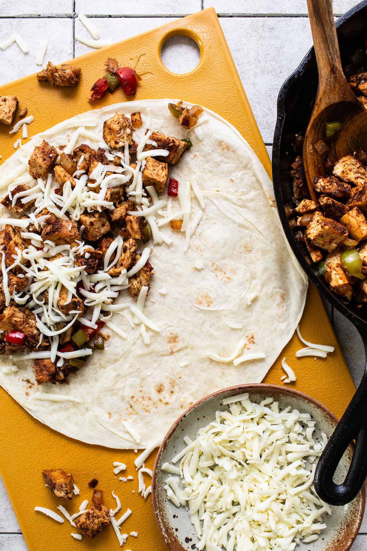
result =
[[[314,47],[319,69],[319,86],[331,84],[338,86],[338,80],[343,75],[340,59],[336,27],[332,11],[332,0],[307,0],[310,25],[314,39]],[[341,79],[345,83],[345,78]],[[344,83],[342,87],[344,88]]]

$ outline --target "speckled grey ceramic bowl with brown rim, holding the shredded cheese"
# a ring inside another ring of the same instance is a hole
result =
[[[168,548],[171,551],[192,551],[197,549],[199,543],[196,537],[190,517],[184,507],[179,509],[167,499],[166,490],[163,488],[167,472],[161,470],[162,464],[170,462],[172,457],[183,449],[185,443],[183,436],[195,438],[196,432],[201,426],[205,426],[215,418],[215,412],[223,406],[222,401],[229,396],[235,396],[248,392],[250,399],[260,402],[264,398],[273,397],[280,407],[291,406],[301,413],[310,413],[316,421],[315,439],[321,438],[321,433],[330,436],[337,425],[337,418],[320,402],[302,392],[275,385],[243,385],[215,392],[200,400],[179,417],[169,429],[156,458],[153,480],[152,501],[158,526],[162,532]],[[353,450],[349,446],[344,454],[337,471],[336,482],[344,479]],[[365,507],[365,489],[358,494],[348,505],[332,507],[332,515],[324,515],[327,528],[315,542],[299,544],[295,551],[347,551],[358,534]]]

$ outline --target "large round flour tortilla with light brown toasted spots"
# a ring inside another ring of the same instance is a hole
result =
[[[141,112],[144,126],[138,137],[149,127],[184,138],[185,129],[169,113],[168,101],[175,100],[103,107],[38,134],[2,165],[0,186],[7,183],[9,170],[22,172],[21,159],[26,163],[42,139],[65,145],[83,125],[101,139],[103,121],[116,111],[127,116]],[[180,184],[196,182],[205,209],[186,252],[184,233],[169,224],[162,233],[171,237],[172,245],[152,245],[155,276],[144,314],[161,331],[147,329],[151,344],[143,343],[140,326],[124,310],[113,314],[112,322],[128,338],[106,330],[111,338],[105,351],[96,350],[84,368],[69,377],[69,386],[30,387],[26,380],[35,381],[32,360],[19,362],[19,371],[10,374],[3,372],[3,366],[12,365],[9,356],[0,360],[1,386],[33,417],[74,439],[116,449],[145,448],[159,441],[198,399],[223,387],[261,382],[300,320],[307,280],[286,245],[271,181],[237,130],[210,110],[204,114],[202,141],[189,132],[193,147],[170,168],[170,176]],[[90,126],[93,121],[96,125]],[[80,143],[98,147],[85,137],[76,145]],[[26,171],[28,165],[23,166]],[[191,193],[191,219],[199,208]],[[204,269],[196,269],[196,261],[202,261]],[[118,301],[136,303],[128,291]],[[242,328],[228,327],[226,321]],[[262,352],[265,359],[234,366],[203,357],[206,352],[229,356],[243,338],[244,353]],[[34,395],[40,390],[82,403],[39,401]],[[125,426],[139,433],[139,443]]]

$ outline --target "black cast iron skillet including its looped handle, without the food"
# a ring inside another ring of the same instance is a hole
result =
[[[349,56],[355,49],[364,47],[367,39],[367,0],[363,0],[338,19],[336,26],[344,65],[348,63]],[[300,66],[283,84],[278,96],[272,153],[274,193],[284,232],[300,265],[324,298],[358,329],[367,356],[367,311],[359,311],[354,305],[349,305],[346,300],[333,294],[317,268],[308,265],[289,227],[284,208],[285,203],[292,201],[290,169],[296,155],[293,151],[294,134],[304,133],[306,130],[316,96],[317,80],[315,52],[311,48]],[[339,460],[353,440],[354,455],[346,479],[342,484],[335,484],[333,475]],[[344,505],[355,498],[366,477],[367,364],[363,379],[317,464],[315,489],[327,503]]]

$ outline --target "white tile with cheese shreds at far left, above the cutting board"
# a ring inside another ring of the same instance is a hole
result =
[[[45,65],[47,61],[60,63],[73,57],[72,19],[0,19],[1,40],[13,33],[20,33],[30,51],[23,53],[14,42],[7,50],[0,52],[0,84],[40,71],[41,67],[35,63],[40,37],[48,39]]]

